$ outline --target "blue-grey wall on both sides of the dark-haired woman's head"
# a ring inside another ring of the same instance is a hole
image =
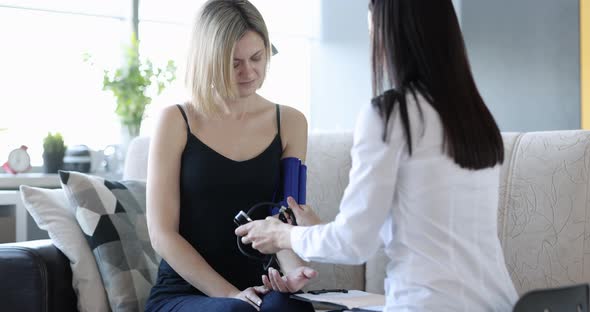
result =
[[[371,97],[367,1],[318,1],[310,129],[352,130]],[[578,129],[579,1],[452,1],[476,83],[500,129]]]

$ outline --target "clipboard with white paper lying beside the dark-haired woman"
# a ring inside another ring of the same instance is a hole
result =
[[[383,311],[385,296],[361,290],[325,292],[321,294],[299,293],[291,298],[311,302],[316,309],[336,309],[352,311]]]

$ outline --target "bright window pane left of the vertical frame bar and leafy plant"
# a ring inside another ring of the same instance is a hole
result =
[[[83,61],[83,54],[116,64],[128,23],[120,16],[91,15],[92,8],[58,11],[68,1],[21,4],[0,6],[0,128],[6,128],[0,132],[0,157],[27,145],[33,166],[40,166],[48,131],[62,133],[68,145],[102,149],[112,144],[120,131],[115,102],[101,90],[102,74]],[[41,4],[55,6],[45,10]]]

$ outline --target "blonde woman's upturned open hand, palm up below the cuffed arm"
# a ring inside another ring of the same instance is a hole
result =
[[[266,288],[274,291],[294,293],[301,290],[316,276],[318,276],[318,272],[306,266],[300,266],[285,276],[281,276],[279,271],[274,268],[268,268],[268,275],[262,275],[262,283]]]

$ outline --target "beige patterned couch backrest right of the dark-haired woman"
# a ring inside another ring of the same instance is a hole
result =
[[[529,132],[502,179],[500,239],[517,291],[590,281],[590,132]]]

